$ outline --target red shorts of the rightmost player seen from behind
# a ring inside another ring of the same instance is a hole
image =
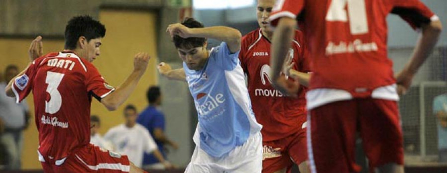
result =
[[[403,137],[396,101],[354,99],[329,103],[307,117],[312,173],[359,172],[355,140],[359,132],[370,168],[403,165]]]

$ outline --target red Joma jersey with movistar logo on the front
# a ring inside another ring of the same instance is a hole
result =
[[[285,97],[271,85],[270,41],[262,35],[261,29],[254,30],[242,38],[239,53],[241,66],[248,77],[248,93],[256,120],[262,128],[263,141],[287,137],[299,129],[306,119],[304,86],[298,91],[298,99]],[[303,35],[295,32],[289,58],[295,62],[294,69],[309,72],[308,52]]]

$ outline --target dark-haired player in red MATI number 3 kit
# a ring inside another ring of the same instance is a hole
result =
[[[6,94],[17,103],[33,92],[39,161],[45,173],[144,172],[127,156],[90,144],[92,97],[110,111],[117,109],[137,86],[150,59],[147,53],[136,54],[132,73],[120,86],[110,86],[92,64],[100,55],[105,32],[104,25],[90,16],[73,17],[65,29],[64,50],[39,58],[30,54],[36,59],[6,87]],[[38,37],[31,48],[41,45]]]

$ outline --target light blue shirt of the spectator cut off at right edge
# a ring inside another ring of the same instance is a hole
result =
[[[433,114],[443,111],[447,112],[447,94],[436,96],[433,100]],[[437,119],[438,122],[438,119]],[[438,122],[438,149],[447,149],[447,128]]]

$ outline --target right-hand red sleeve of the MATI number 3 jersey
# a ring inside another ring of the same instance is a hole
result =
[[[86,77],[87,92],[101,101],[104,97],[112,93],[115,88],[110,86],[99,74],[98,70],[91,65],[87,71]]]

